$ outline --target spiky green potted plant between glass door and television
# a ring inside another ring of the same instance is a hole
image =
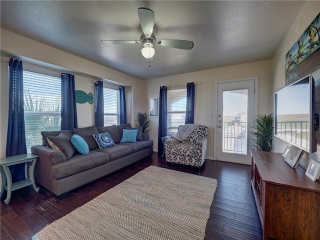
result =
[[[271,151],[272,149],[272,136],[273,136],[273,117],[272,113],[269,115],[260,115],[254,119],[254,131],[251,131],[253,138],[252,149],[257,151]]]

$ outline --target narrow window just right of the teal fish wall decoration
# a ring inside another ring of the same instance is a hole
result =
[[[120,124],[120,91],[118,87],[103,86],[104,126]]]

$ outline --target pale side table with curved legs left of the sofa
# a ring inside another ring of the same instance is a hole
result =
[[[33,185],[33,188],[36,192],[39,191],[39,187],[35,185],[34,181],[34,166],[36,160],[39,156],[31,153],[8,156],[0,158],[0,170],[1,170],[1,194],[2,196],[4,189],[7,190],[7,195],[4,200],[5,204],[10,202],[11,191],[19,189],[24,186]],[[9,166],[23,163],[24,162],[24,175],[25,179],[12,183],[11,172]]]

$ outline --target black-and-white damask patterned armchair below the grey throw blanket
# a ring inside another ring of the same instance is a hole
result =
[[[200,168],[206,156],[207,135],[207,127],[199,125],[182,141],[175,138],[166,139],[164,141],[165,161],[168,164],[173,162]]]

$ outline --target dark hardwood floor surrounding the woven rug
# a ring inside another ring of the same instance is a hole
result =
[[[167,167],[216,178],[217,189],[211,205],[205,239],[262,239],[262,229],[250,188],[250,166],[206,160],[200,173],[197,169],[178,164],[168,167],[164,158],[154,152],[112,174],[76,188],[70,195],[57,199],[40,186],[36,193],[32,186],[12,192],[9,204],[0,201],[0,238],[30,239],[46,224],[60,218],[100,193],[117,185],[149,165]]]

